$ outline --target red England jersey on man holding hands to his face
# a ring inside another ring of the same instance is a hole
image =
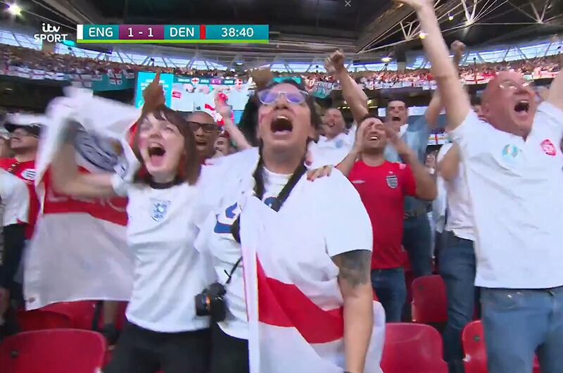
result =
[[[372,270],[403,267],[407,260],[401,244],[405,196],[414,196],[417,189],[412,170],[403,163],[385,161],[372,167],[359,160],[348,179],[372,220]]]

